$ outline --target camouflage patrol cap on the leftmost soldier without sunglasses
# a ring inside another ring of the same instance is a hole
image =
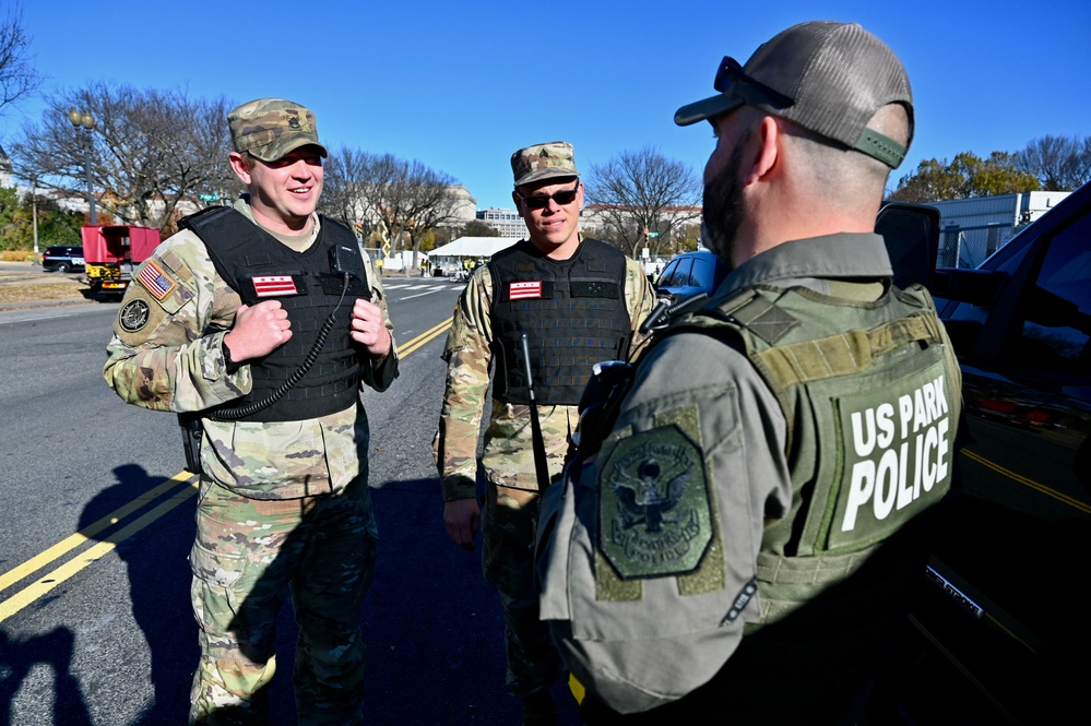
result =
[[[318,140],[315,114],[285,98],[256,98],[227,115],[235,151],[250,152],[262,162],[275,162],[300,146],[318,146],[329,156]]]

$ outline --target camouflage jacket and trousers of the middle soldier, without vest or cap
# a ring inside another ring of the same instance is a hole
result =
[[[477,496],[477,440],[491,364],[491,274],[487,265],[482,265],[459,298],[443,350],[448,361],[447,391],[434,454],[443,499],[448,501]],[[655,291],[633,260],[626,260],[625,301],[632,321],[631,357],[647,341],[637,329],[655,305]],[[538,406],[538,420],[549,474],[555,477],[564,465],[579,412],[576,406]],[[500,594],[508,691],[526,695],[547,687],[559,674],[548,630],[538,619],[534,586],[532,545],[538,485],[529,406],[493,402],[482,467],[487,484],[482,569],[485,580]]]

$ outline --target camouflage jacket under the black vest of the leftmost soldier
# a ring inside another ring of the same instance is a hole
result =
[[[235,209],[253,218],[242,200]],[[366,254],[364,262],[372,299],[393,332],[382,283]],[[227,373],[222,348],[239,296],[216,274],[200,238],[189,230],[174,235],[141,271],[145,267],[155,270],[152,288],[129,286],[107,346],[104,376],[110,388],[127,403],[176,413],[203,410],[248,393],[250,367],[244,364]],[[207,330],[223,332],[202,335]],[[395,350],[390,355],[396,360]],[[389,368],[382,366],[383,372]],[[368,366],[361,373],[378,391],[391,383],[388,376],[377,380]],[[367,419],[356,406],[305,421],[202,420],[204,471],[221,485],[257,499],[336,491],[357,476],[367,454]]]

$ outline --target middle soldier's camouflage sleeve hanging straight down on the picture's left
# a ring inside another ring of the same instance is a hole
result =
[[[447,390],[434,443],[443,499],[477,495],[477,441],[493,352],[493,277],[482,265],[459,297],[447,336]]]

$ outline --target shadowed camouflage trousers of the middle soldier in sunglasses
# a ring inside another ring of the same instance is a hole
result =
[[[538,618],[534,584],[534,531],[538,495],[489,484],[482,516],[482,571],[500,594],[508,656],[507,688],[526,695],[549,688],[560,675],[560,656]]]

